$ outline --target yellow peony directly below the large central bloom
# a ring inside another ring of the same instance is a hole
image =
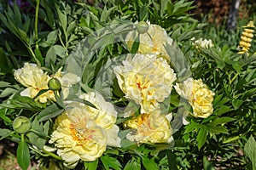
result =
[[[126,138],[139,143],[171,143],[172,114],[165,116],[160,110],[139,115],[124,123],[125,128],[131,128]]]

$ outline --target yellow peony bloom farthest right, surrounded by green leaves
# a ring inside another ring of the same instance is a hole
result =
[[[174,88],[193,108],[193,116],[207,118],[212,115],[212,101],[214,93],[207,88],[201,79],[189,78],[183,83],[177,83]]]

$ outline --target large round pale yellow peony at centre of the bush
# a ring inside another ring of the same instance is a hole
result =
[[[118,79],[119,88],[127,99],[141,105],[141,113],[159,108],[172,91],[176,74],[166,59],[155,54],[128,55],[123,65],[115,66],[113,71]]]

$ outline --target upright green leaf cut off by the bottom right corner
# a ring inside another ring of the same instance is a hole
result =
[[[252,135],[244,146],[244,154],[252,161],[253,169],[256,169],[256,141]]]

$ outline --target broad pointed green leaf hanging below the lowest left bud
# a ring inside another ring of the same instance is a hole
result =
[[[24,134],[21,134],[20,144],[18,145],[17,161],[22,170],[26,170],[30,163],[30,153],[28,145],[24,139]]]

